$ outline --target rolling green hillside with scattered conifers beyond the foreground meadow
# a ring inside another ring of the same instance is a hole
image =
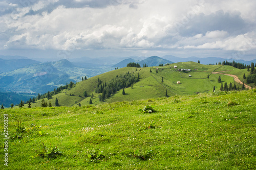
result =
[[[174,66],[177,68],[174,68]],[[191,71],[178,71],[177,69],[190,69]],[[150,72],[152,70],[152,72]],[[158,71],[156,71],[158,70]],[[84,80],[76,83],[72,88],[64,89],[61,93],[53,95],[51,101],[55,106],[55,100],[58,98],[60,106],[77,106],[78,103],[81,106],[89,105],[91,97],[85,98],[83,92],[87,91],[89,95],[94,95],[92,105],[98,105],[102,103],[112,103],[120,101],[134,101],[150,98],[162,98],[175,95],[193,95],[204,92],[211,92],[214,87],[219,90],[221,83],[218,82],[218,78],[221,77],[221,82],[226,82],[232,86],[235,84],[234,79],[230,76],[221,74],[212,74],[213,71],[226,71],[225,73],[237,75],[242,77],[244,72],[249,74],[247,69],[238,69],[227,65],[203,65],[195,62],[180,62],[175,64],[166,65],[163,67],[124,67],[104,74],[92,77],[88,80]],[[117,91],[105,99],[104,102],[99,100],[99,94],[96,93],[96,87],[98,80],[102,83],[109,84],[112,79],[117,76],[121,76],[129,72],[129,74],[137,76],[139,74],[140,79],[137,83],[133,83],[133,86],[125,88],[125,95],[122,94],[122,90]],[[190,75],[190,77],[189,77]],[[209,76],[209,79],[207,78]],[[163,80],[163,82],[162,82]],[[243,81],[243,78],[240,79]],[[180,84],[177,84],[177,82]],[[246,81],[245,81],[246,82]],[[236,86],[240,89],[242,85],[236,83]],[[253,83],[250,86],[254,86]],[[45,99],[46,100],[46,99]],[[32,104],[32,107],[40,107],[41,100]],[[26,107],[26,106],[25,106]]]

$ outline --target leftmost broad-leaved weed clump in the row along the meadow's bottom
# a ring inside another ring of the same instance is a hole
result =
[[[45,143],[42,142],[41,150],[35,150],[37,156],[48,159],[57,159],[57,156],[62,155],[62,153],[58,150],[57,147],[52,147],[50,144],[50,148],[46,147]]]

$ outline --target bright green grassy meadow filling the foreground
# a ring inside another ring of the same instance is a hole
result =
[[[1,110],[1,143],[8,114],[9,169],[256,169],[255,100],[248,90]],[[42,142],[61,155],[39,156]]]

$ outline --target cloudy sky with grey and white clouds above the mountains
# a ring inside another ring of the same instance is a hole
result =
[[[0,1],[0,54],[256,59],[253,0]]]

